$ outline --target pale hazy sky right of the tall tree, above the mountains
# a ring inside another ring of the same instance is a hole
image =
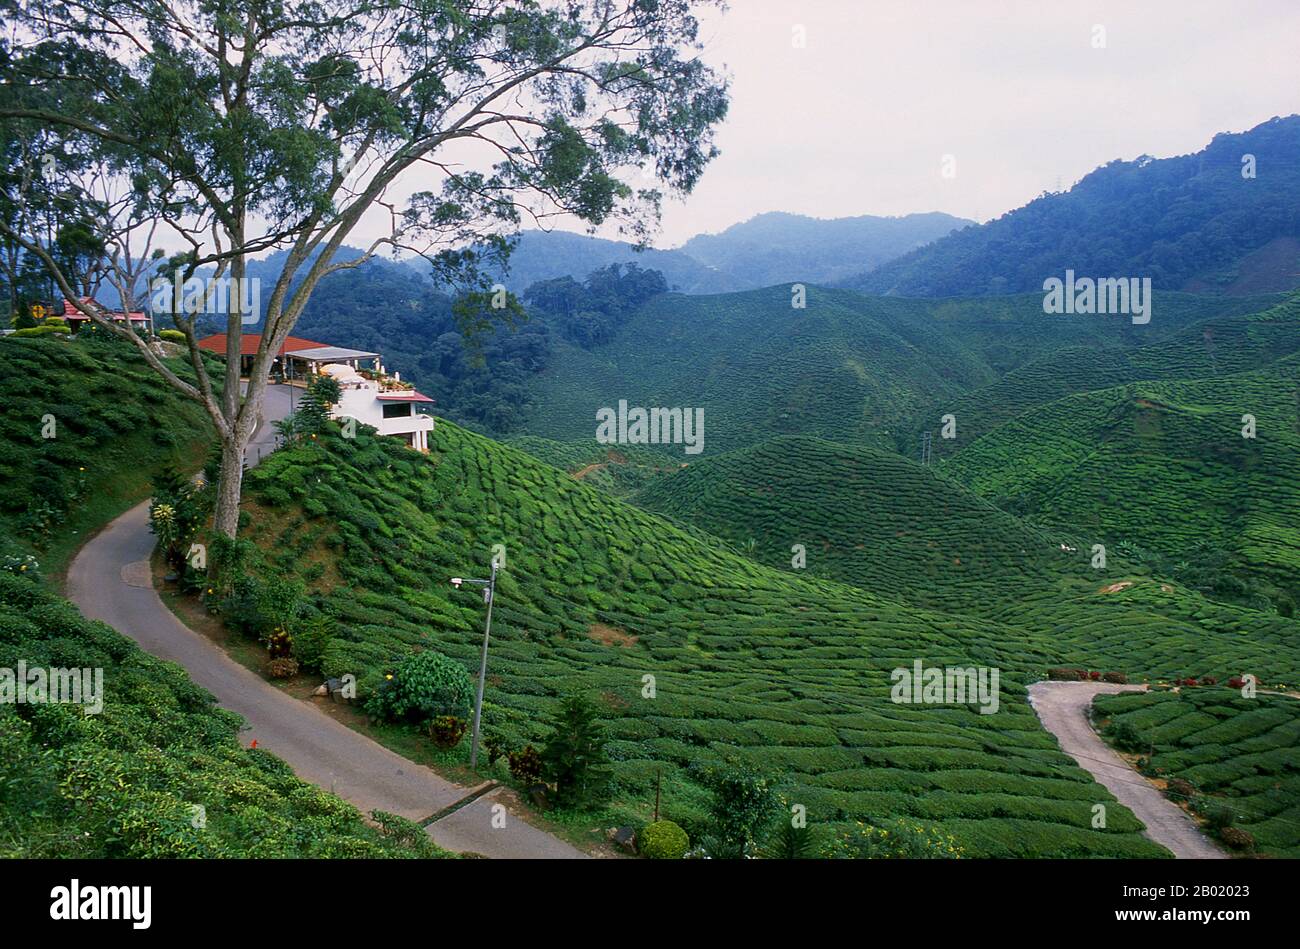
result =
[[[732,0],[703,34],[733,83],[723,153],[660,247],[763,211],[985,221],[1300,112],[1300,0]]]

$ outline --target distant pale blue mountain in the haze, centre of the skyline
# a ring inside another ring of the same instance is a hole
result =
[[[838,283],[971,224],[939,212],[831,220],[770,212],[693,237],[681,250],[728,274],[736,289]]]

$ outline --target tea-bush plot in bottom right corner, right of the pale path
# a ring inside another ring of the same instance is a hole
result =
[[[1136,738],[1152,777],[1192,785],[1202,816],[1226,809],[1232,826],[1269,857],[1300,857],[1300,702],[1225,688],[1097,696],[1093,708],[1114,741],[1122,727]],[[1178,792],[1171,797],[1182,798]]]

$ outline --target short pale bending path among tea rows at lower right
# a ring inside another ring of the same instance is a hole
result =
[[[1092,772],[1119,803],[1147,824],[1144,835],[1149,840],[1178,858],[1222,859],[1223,852],[1201,833],[1196,822],[1112,751],[1088,722],[1088,706],[1097,693],[1141,692],[1145,688],[1112,682],[1035,682],[1030,686],[1030,705],[1043,720],[1043,727],[1061,742],[1061,750],[1079,767]]]

